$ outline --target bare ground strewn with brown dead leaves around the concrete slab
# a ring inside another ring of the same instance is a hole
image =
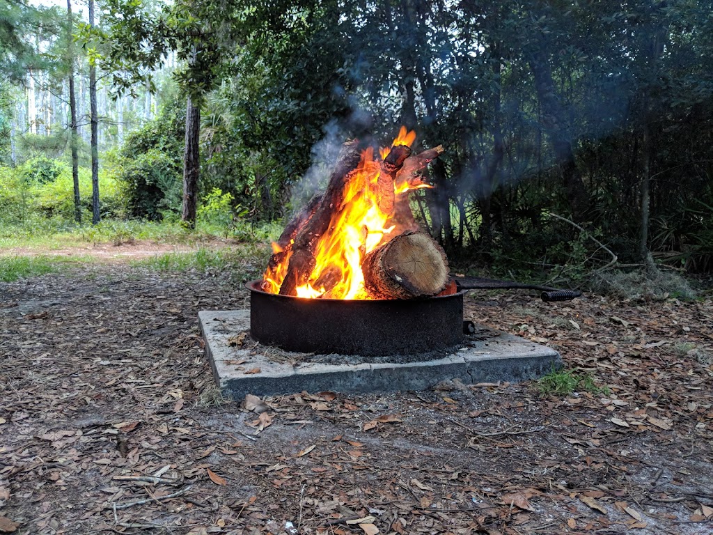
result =
[[[473,292],[466,319],[565,371],[241,407],[212,387],[197,312],[247,307],[258,271],[0,283],[0,533],[713,531],[709,297]]]

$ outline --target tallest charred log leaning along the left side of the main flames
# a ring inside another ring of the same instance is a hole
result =
[[[282,286],[279,288],[280,295],[296,295],[297,286],[304,285],[312,275],[316,263],[314,250],[317,248],[319,237],[329,230],[334,211],[342,208],[346,184],[349,182],[350,175],[354,173],[354,168],[359,165],[361,155],[358,146],[357,141],[344,143],[337,167],[329,177],[327,190],[324,191],[319,206],[295,235],[287,274],[284,275]]]

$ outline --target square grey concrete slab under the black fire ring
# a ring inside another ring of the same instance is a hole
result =
[[[460,347],[425,359],[385,356],[359,362],[354,356],[307,356],[250,342],[245,336],[250,331],[250,310],[202,310],[198,320],[215,382],[234,399],[303,390],[422,390],[447,379],[466,384],[518,382],[540,377],[560,362],[560,355],[550,347],[486,327],[476,327]]]

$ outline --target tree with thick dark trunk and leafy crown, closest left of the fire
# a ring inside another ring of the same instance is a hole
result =
[[[180,0],[157,13],[133,0],[110,0],[107,7],[110,29],[102,36],[103,61],[114,71],[119,91],[140,81],[153,87],[150,69],[170,51],[185,62],[175,72],[187,109],[181,218],[193,228],[200,176],[200,107],[207,92],[232,68],[242,6]]]

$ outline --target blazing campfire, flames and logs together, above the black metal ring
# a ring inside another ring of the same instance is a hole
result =
[[[443,147],[413,154],[415,139],[413,131],[401,127],[391,147],[378,153],[356,140],[344,143],[327,189],[272,244],[262,291],[309,299],[391,300],[446,290],[446,254],[421,229],[409,204],[409,192],[431,187],[421,171]]]

